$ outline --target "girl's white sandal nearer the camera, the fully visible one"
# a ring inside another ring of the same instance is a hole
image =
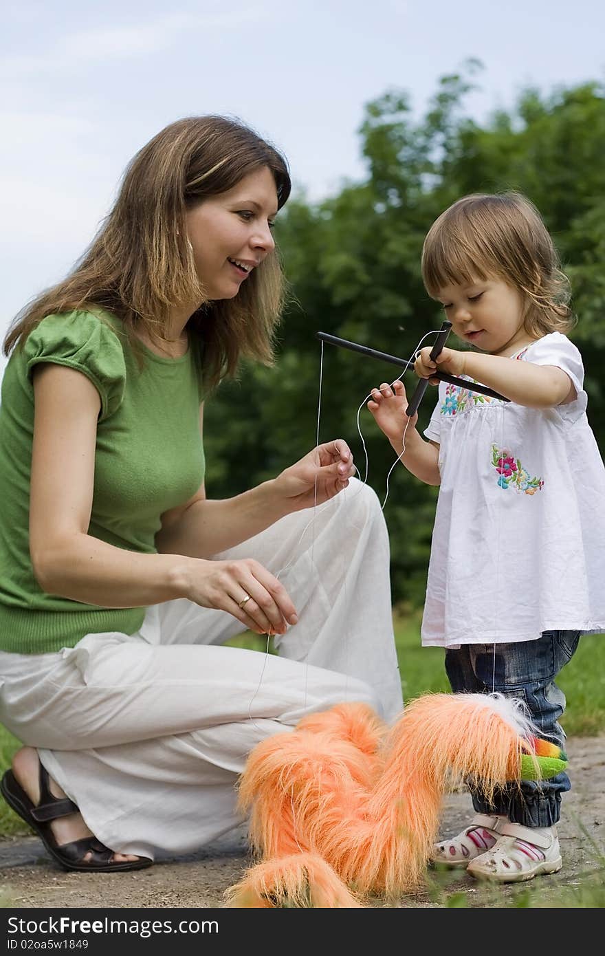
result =
[[[501,836],[486,853],[474,858],[466,872],[479,880],[515,883],[557,873],[562,866],[556,827],[522,827],[505,823]]]

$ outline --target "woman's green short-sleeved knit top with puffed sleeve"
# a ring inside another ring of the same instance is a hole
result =
[[[11,354],[0,404],[0,648],[41,654],[85,634],[140,627],[144,608],[102,608],[41,590],[29,545],[32,370],[54,362],[81,372],[100,397],[89,534],[118,548],[156,552],[164,511],[204,481],[199,414],[201,348],[181,359],[141,346],[142,365],[121,323],[107,313],[48,315]]]

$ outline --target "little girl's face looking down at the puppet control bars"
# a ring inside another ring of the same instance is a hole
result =
[[[437,298],[452,331],[482,352],[511,356],[533,341],[523,322],[523,296],[502,279],[452,283],[443,286]]]

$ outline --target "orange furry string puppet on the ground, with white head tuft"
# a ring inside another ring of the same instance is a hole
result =
[[[452,773],[489,799],[519,779],[534,731],[502,695],[425,694],[391,730],[368,706],[346,704],[269,737],[240,780],[240,809],[264,862],[229,905],[357,906],[347,886],[389,896],[414,889]]]

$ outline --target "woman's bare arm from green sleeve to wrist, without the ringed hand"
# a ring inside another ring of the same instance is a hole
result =
[[[80,372],[36,367],[30,553],[43,590],[104,607],[182,597],[178,562],[135,554],[89,535],[100,400]]]

